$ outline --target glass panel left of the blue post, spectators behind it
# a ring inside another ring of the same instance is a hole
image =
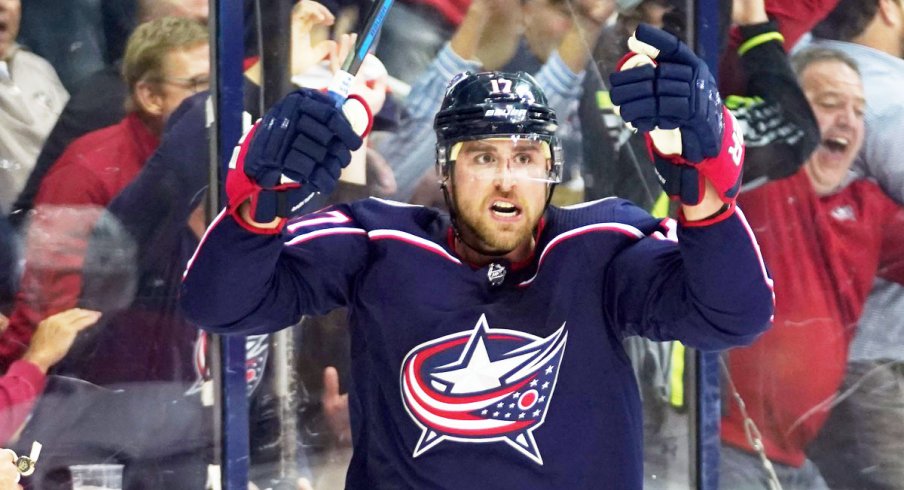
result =
[[[11,119],[0,132],[18,148],[0,156],[4,224],[13,210],[3,251],[17,253],[0,273],[16,279],[2,310],[4,371],[18,379],[4,447],[37,456],[26,488],[206,488],[208,337],[181,315],[178,291],[205,227],[208,6],[2,10],[5,35],[18,31],[2,62]],[[201,110],[177,111],[189,98]]]

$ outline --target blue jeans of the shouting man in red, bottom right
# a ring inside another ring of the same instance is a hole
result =
[[[722,445],[719,454],[719,488],[725,490],[769,490],[766,469],[758,454]],[[816,465],[810,460],[800,468],[772,462],[783,490],[828,490]]]

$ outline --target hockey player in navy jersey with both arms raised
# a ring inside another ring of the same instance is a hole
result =
[[[673,223],[623,200],[548,205],[556,117],[522,73],[450,84],[435,121],[449,215],[368,199],[281,217],[330,192],[360,145],[321,94],[290,94],[240,143],[182,305],[227,334],[348,306],[349,488],[641,488],[621,340],[723,349],[768,325],[731,117],[685,45],[649,26],[636,38],[658,65],[614,74],[612,98],[639,130],[680,134],[671,156],[651,138],[684,203],[677,243]]]

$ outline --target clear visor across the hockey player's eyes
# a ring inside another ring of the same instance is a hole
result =
[[[443,180],[454,167],[457,178],[463,180],[509,179],[556,184],[562,180],[561,154],[549,136],[490,135],[439,148],[437,163]]]

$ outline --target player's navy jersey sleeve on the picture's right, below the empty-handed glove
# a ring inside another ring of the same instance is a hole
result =
[[[618,214],[645,235],[606,272],[604,307],[622,334],[719,350],[747,345],[768,328],[772,279],[739,208],[697,226],[650,226],[652,218],[630,205]]]

